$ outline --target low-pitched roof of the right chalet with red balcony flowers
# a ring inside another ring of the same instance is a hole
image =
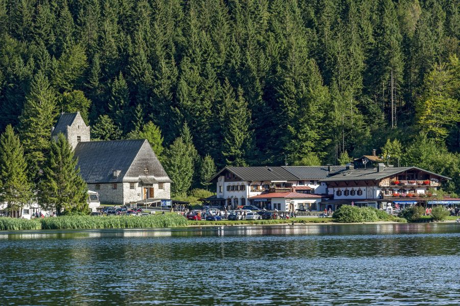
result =
[[[335,181],[359,181],[359,180],[379,180],[388,176],[392,176],[404,171],[417,169],[420,171],[424,171],[426,173],[430,173],[436,176],[439,176],[444,179],[451,179],[447,176],[442,176],[440,174],[436,174],[421,168],[417,167],[385,167],[382,171],[378,172],[377,168],[369,168],[369,169],[352,169],[342,171],[341,173],[322,179],[321,181],[324,182],[335,182]]]

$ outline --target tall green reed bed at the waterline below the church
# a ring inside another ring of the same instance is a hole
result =
[[[185,227],[187,220],[176,214],[158,216],[61,216],[44,219],[0,218],[0,230],[31,229],[104,229],[104,228],[171,228]]]

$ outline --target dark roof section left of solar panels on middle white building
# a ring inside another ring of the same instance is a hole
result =
[[[228,170],[243,181],[272,181],[297,180],[297,177],[282,167],[231,167],[220,170],[210,181],[216,179],[222,172]]]

